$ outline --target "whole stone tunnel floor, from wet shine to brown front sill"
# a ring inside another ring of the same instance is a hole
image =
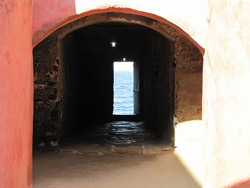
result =
[[[142,121],[113,121],[76,131],[60,151],[146,154],[169,150]]]

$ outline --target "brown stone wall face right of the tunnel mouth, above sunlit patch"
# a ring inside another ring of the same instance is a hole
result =
[[[202,119],[203,57],[184,36],[175,42],[175,116],[179,122]]]

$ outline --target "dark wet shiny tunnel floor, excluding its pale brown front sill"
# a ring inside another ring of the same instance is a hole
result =
[[[159,143],[142,121],[113,121],[72,134],[65,146],[139,146]]]

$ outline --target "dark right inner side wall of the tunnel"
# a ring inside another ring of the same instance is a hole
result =
[[[164,143],[174,145],[174,44],[157,32],[148,35],[141,64],[144,123]]]

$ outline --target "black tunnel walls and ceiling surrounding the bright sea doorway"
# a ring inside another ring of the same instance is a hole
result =
[[[63,63],[59,67],[62,141],[79,133],[85,135],[90,129],[99,130],[108,122],[123,121],[111,126],[119,131],[119,126],[129,129],[140,121],[139,125],[145,126],[140,130],[150,130],[158,139],[171,143],[174,109],[171,45],[171,41],[152,29],[125,23],[95,24],[65,36],[61,41]],[[124,59],[134,62],[137,112],[129,116],[113,115],[113,65]]]

